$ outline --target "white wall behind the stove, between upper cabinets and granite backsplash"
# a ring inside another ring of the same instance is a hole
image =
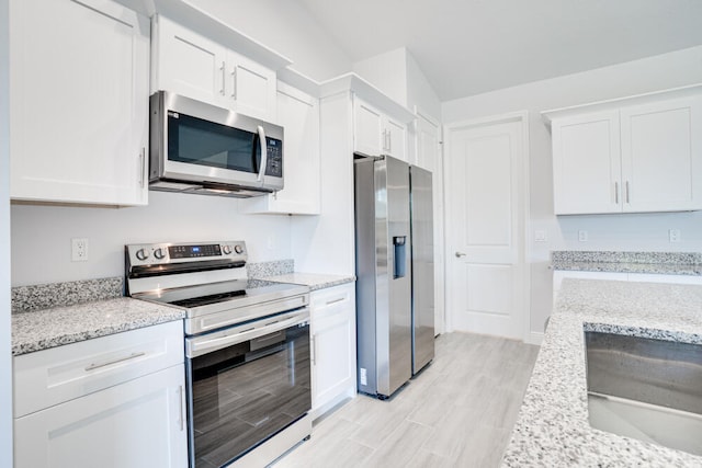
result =
[[[12,285],[124,275],[126,243],[245,240],[250,262],[291,259],[288,216],[242,215],[240,201],[150,192],[131,208],[12,206]],[[71,262],[71,238],[88,238]]]

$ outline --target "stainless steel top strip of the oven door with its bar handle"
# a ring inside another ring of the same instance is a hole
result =
[[[275,319],[275,320],[274,320]],[[215,332],[212,335],[185,339],[185,356],[197,357],[234,344],[253,340],[269,333],[302,324],[309,321],[309,307],[295,310],[283,316],[271,317],[268,320],[234,327],[229,330]]]

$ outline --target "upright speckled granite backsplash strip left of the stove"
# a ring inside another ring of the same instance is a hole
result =
[[[113,299],[124,294],[124,277],[16,286],[12,288],[12,313]]]

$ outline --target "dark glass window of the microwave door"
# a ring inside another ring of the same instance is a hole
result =
[[[169,112],[168,159],[258,174],[261,145],[258,133]]]

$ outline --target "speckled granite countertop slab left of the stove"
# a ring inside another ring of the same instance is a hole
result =
[[[183,311],[121,297],[12,315],[12,354],[183,319]]]

